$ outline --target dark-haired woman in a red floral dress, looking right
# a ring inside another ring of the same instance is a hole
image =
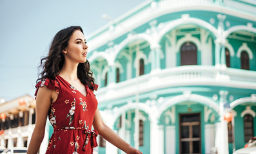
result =
[[[94,95],[97,85],[86,60],[87,49],[79,26],[59,31],[52,40],[48,56],[41,60],[43,72],[35,86],[36,120],[28,154],[39,150],[47,115],[54,133],[46,153],[93,153],[98,133],[126,153],[141,153],[104,124]]]

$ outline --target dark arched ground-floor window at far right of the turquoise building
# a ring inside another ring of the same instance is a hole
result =
[[[244,142],[253,137],[253,117],[250,114],[244,116]]]

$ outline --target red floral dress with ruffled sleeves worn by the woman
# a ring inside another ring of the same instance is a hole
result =
[[[46,153],[93,153],[98,134],[96,130],[91,130],[98,105],[93,90],[84,85],[87,93],[84,96],[61,76],[56,76],[55,80],[46,78],[39,81],[35,85],[35,96],[39,87],[44,86],[56,90],[58,94],[48,112],[54,133]]]

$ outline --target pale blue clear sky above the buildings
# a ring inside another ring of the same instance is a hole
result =
[[[117,19],[144,1],[0,0],[0,98],[34,97],[37,67],[57,31],[81,26],[86,39],[110,22],[103,14]]]

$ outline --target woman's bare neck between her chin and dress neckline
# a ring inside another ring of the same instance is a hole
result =
[[[63,67],[59,73],[59,76],[66,80],[74,81],[77,80],[77,66],[78,64],[63,64]]]

